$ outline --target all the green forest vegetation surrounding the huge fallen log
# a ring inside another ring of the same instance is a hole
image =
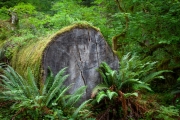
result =
[[[11,67],[14,51],[74,23],[100,29],[119,58],[105,62],[103,82],[79,105],[86,89],[66,94],[66,68],[36,83]],[[180,119],[179,0],[1,0],[1,120]]]

